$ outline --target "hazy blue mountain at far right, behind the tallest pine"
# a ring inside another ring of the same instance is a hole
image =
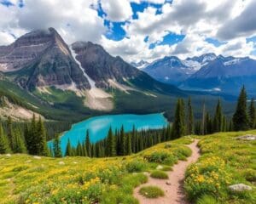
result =
[[[238,94],[242,85],[246,86],[249,94],[256,94],[256,60],[219,55],[180,87]]]

